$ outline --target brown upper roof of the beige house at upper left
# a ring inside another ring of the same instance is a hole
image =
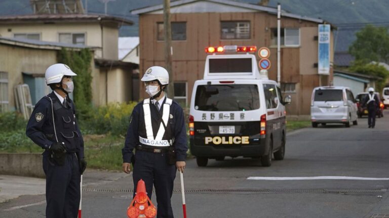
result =
[[[120,25],[133,25],[133,22],[121,17],[100,14],[31,14],[0,16],[0,24],[16,23],[68,23],[68,22],[115,22]]]

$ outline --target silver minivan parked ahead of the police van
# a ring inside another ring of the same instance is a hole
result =
[[[353,92],[343,86],[314,88],[310,103],[312,127],[318,124],[341,123],[346,127],[358,125],[358,107]]]

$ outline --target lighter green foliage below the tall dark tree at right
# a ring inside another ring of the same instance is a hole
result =
[[[386,78],[389,77],[389,71],[376,62],[365,64],[363,61],[355,61],[350,67],[350,71],[379,77],[380,79],[376,81],[375,85],[378,92],[385,87]]]

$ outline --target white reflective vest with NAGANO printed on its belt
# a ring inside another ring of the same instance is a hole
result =
[[[146,138],[139,136],[139,143],[148,146],[157,146],[157,147],[168,147],[172,145],[172,139],[163,139],[165,135],[166,128],[168,128],[168,121],[170,115],[170,105],[173,100],[166,98],[165,103],[163,104],[163,114],[162,121],[157,132],[157,136],[154,138],[154,133],[152,130],[151,124],[151,112],[150,112],[150,98],[143,100],[143,113],[144,113],[144,124],[146,129]],[[165,126],[164,126],[165,124]],[[166,127],[166,128],[165,128]],[[170,133],[170,131],[169,131]]]

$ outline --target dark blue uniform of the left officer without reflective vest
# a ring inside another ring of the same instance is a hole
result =
[[[78,159],[84,158],[84,140],[75,120],[74,103],[67,98],[67,104],[62,105],[54,91],[43,97],[34,107],[26,134],[45,149],[42,155],[46,174],[46,217],[77,217],[81,180]],[[57,139],[66,149],[63,165],[48,150]]]

